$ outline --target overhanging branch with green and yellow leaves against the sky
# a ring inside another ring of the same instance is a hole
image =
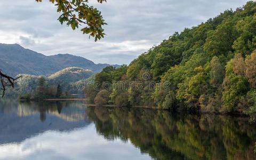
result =
[[[36,0],[42,2],[42,0]],[[62,13],[59,17],[61,25],[63,22],[67,22],[68,26],[71,26],[73,30],[78,26],[85,25],[81,29],[83,34],[89,34],[95,38],[95,42],[103,38],[105,33],[102,28],[103,25],[107,25],[103,20],[101,12],[89,6],[87,3],[89,0],[49,0],[55,6],[57,6],[57,12]],[[97,0],[99,3],[107,2],[107,0]]]

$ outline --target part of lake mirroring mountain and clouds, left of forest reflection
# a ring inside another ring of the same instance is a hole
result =
[[[130,141],[97,134],[81,102],[56,104],[0,102],[0,159],[151,159]]]

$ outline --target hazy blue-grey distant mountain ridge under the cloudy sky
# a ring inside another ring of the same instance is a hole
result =
[[[119,65],[95,64],[83,57],[71,54],[57,54],[46,56],[28,50],[19,44],[0,43],[0,69],[10,75],[50,75],[67,67],[81,67],[98,73],[107,66]]]

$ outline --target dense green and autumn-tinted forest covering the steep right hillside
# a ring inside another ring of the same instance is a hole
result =
[[[226,10],[197,27],[174,33],[129,66],[103,69],[85,89],[88,101],[173,110],[243,111],[254,118],[255,26],[256,2],[250,1],[236,11]]]

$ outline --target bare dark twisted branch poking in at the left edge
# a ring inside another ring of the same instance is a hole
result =
[[[1,81],[1,84],[2,84],[2,88],[1,89],[3,90],[2,97],[4,97],[6,87],[11,86],[12,88],[14,88],[15,82],[20,77],[21,76],[19,76],[17,78],[13,78],[13,77],[7,76],[6,74],[3,74],[2,71],[0,70],[0,81]]]

